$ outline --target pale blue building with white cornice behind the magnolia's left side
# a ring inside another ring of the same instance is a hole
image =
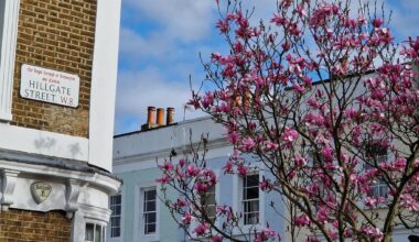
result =
[[[245,230],[250,227],[262,230],[269,223],[271,229],[283,234],[283,220],[270,207],[273,201],[281,208],[280,196],[262,193],[258,186],[262,176],[269,177],[269,174],[259,170],[246,177],[247,180],[256,180],[256,187],[251,187],[250,183],[246,185],[245,177],[239,175],[224,175],[223,166],[232,155],[233,146],[221,124],[205,117],[164,125],[162,118],[159,118],[162,109],[160,112],[158,109],[157,123],[153,110],[154,108],[149,108],[148,123],[142,125],[141,131],[114,139],[114,173],[123,180],[123,185],[120,194],[112,198],[116,204],[111,207],[118,209],[112,209],[117,216],[111,222],[114,233],[108,233],[108,241],[190,241],[187,234],[173,221],[164,204],[159,200],[162,195],[161,186],[155,180],[161,177],[158,163],[162,163],[170,155],[176,161],[187,158],[191,144],[196,145],[202,135],[208,135],[206,165],[219,177],[211,191],[216,204],[244,212],[247,218],[244,219],[247,224],[243,224]],[[253,165],[258,166],[256,162]],[[255,196],[244,196],[244,190],[251,188]],[[169,196],[175,197],[176,194],[169,191]],[[249,202],[253,205],[245,208],[245,204]],[[151,207],[144,206],[150,204]]]

